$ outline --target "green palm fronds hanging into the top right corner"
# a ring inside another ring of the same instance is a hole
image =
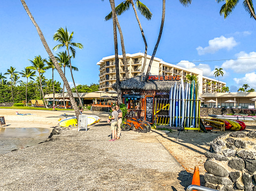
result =
[[[235,9],[239,0],[217,0],[218,3],[221,3],[223,1],[225,1],[226,3],[222,5],[220,9],[220,15],[224,14],[224,19],[226,19],[227,16],[232,13],[233,9]],[[251,18],[253,17],[256,20],[252,0],[244,0],[243,5],[245,10],[250,14]]]

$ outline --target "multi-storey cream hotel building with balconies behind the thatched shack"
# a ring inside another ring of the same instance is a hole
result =
[[[129,78],[133,78],[141,74],[142,65],[144,63],[144,54],[136,53],[136,54],[126,54],[127,63],[128,63],[128,71]],[[150,62],[151,56],[147,56],[146,67],[144,73],[148,69],[148,65]],[[103,57],[97,65],[99,65],[99,90],[104,92],[108,92],[112,90],[112,84],[115,83],[115,56],[107,56]],[[125,70],[122,55],[119,55],[119,72],[120,72],[120,80],[125,80]],[[152,75],[160,75],[160,76],[177,76],[179,75],[181,78],[186,79],[185,76],[188,74],[194,75],[198,78],[199,81],[199,93],[214,93],[217,89],[221,89],[226,86],[225,82],[218,80],[207,78],[203,76],[203,70],[198,68],[183,68],[179,67],[175,64],[170,64],[164,61],[161,61],[157,57],[154,57],[150,73]],[[206,85],[206,82],[211,82],[211,85]]]

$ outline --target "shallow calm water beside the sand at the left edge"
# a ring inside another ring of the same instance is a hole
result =
[[[46,128],[0,128],[0,154],[44,142],[51,134]]]

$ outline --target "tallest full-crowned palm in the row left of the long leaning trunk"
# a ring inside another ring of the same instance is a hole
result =
[[[40,55],[35,56],[34,60],[29,60],[29,61],[32,63],[32,66],[27,67],[27,68],[38,72],[38,77],[39,77],[39,81],[40,81],[40,89],[42,92],[44,105],[48,109],[48,106],[46,105],[45,98],[44,98],[43,87],[42,87],[42,78],[41,78],[41,74],[44,73],[45,70],[49,69],[49,67],[45,66],[45,62],[47,62],[47,61],[45,59],[42,59],[42,57]]]

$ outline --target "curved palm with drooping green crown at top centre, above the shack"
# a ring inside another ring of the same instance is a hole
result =
[[[137,6],[138,11],[143,16],[145,16],[146,19],[151,20],[152,13],[150,12],[149,8],[146,5],[144,5],[143,3],[141,3],[139,0],[135,0],[135,4]],[[130,8],[130,5],[133,6],[133,10],[134,10],[134,13],[135,13],[138,25],[139,25],[139,29],[141,29],[141,35],[142,35],[142,38],[143,38],[144,44],[145,44],[144,63],[142,66],[142,72],[144,72],[144,69],[146,66],[146,56],[147,56],[147,52],[148,52],[148,44],[146,43],[146,38],[145,38],[144,31],[141,26],[141,21],[139,21],[138,14],[135,9],[133,0],[126,0],[122,3],[120,3],[117,7],[115,7],[115,12],[117,13],[117,15],[121,15],[123,12],[127,11]],[[105,17],[105,20],[110,20],[111,18],[112,18],[112,12]],[[118,24],[118,20],[117,20],[117,24]],[[119,27],[118,27],[118,29],[119,29]],[[120,30],[119,30],[119,32],[120,32]]]

